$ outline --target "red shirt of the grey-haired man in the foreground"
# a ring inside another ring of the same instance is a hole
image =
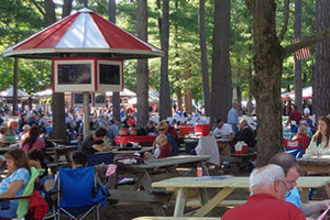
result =
[[[253,195],[246,204],[226,211],[221,220],[306,220],[294,204],[276,199],[270,194]]]

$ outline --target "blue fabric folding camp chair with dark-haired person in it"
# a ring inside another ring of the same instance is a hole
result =
[[[57,186],[57,219],[61,213],[76,220],[85,219],[92,211],[95,219],[99,219],[98,205],[106,205],[107,200],[105,190],[97,184],[94,167],[61,168]]]

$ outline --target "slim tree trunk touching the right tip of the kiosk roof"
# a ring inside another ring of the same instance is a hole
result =
[[[169,2],[163,0],[162,18],[162,51],[165,55],[161,64],[161,94],[160,94],[160,120],[172,116],[170,91],[168,81],[168,42],[169,42]]]

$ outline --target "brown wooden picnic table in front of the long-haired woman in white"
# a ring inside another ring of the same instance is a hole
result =
[[[327,174],[330,176],[330,155],[297,158],[299,167],[308,174]]]

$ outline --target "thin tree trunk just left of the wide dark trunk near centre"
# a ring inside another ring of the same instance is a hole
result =
[[[205,32],[205,0],[199,1],[199,45],[200,45],[200,63],[202,77],[202,95],[205,105],[205,114],[210,116],[210,82],[209,66],[207,57],[206,32]]]

